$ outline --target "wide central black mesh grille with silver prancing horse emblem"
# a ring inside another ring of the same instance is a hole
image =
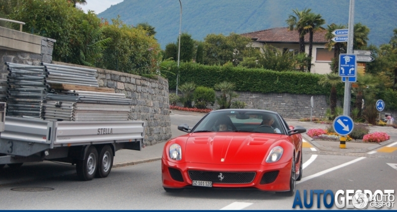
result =
[[[255,172],[210,172],[189,170],[191,180],[210,181],[219,184],[246,184],[255,178]]]

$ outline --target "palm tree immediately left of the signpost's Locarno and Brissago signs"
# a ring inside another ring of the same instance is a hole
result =
[[[337,29],[344,29],[346,28],[345,25],[339,24],[336,25],[332,23],[331,25],[327,25],[327,33],[325,34],[325,39],[328,41],[327,44],[325,44],[325,47],[328,48],[328,50],[331,51],[332,47],[333,49],[333,61],[332,61],[332,72],[337,73],[338,72],[338,64],[339,64],[339,54],[342,53],[343,50],[346,49],[346,43],[345,42],[333,42],[331,39],[335,37],[335,35],[332,34],[334,30]]]

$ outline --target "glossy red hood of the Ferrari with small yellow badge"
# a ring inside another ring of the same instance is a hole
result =
[[[203,132],[187,138],[185,160],[208,164],[260,164],[280,134]]]

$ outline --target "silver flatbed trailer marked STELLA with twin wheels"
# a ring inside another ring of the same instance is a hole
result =
[[[0,168],[58,161],[76,165],[79,179],[87,181],[109,175],[116,151],[143,146],[144,121],[47,121],[6,117],[4,111],[2,103]]]

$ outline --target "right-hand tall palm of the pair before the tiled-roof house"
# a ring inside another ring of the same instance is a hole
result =
[[[304,15],[302,22],[304,23],[303,30],[309,33],[309,54],[308,57],[310,61],[307,64],[307,71],[310,72],[312,67],[312,53],[313,53],[313,34],[318,30],[324,30],[321,25],[325,24],[325,20],[322,18],[320,14],[316,13],[307,13]]]

